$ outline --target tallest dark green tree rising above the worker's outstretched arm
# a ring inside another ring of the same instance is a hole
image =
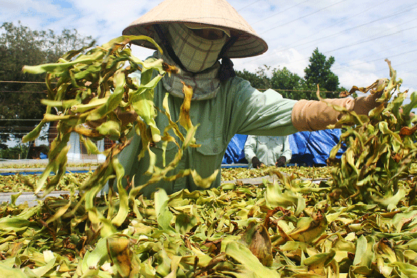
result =
[[[334,57],[330,56],[327,59],[326,56],[321,54],[316,48],[309,58],[309,61],[310,65],[304,70],[306,88],[314,90],[314,88],[319,85],[320,90],[330,91],[325,94],[325,97],[338,97],[338,93],[336,93],[336,91],[340,91],[338,88],[338,76],[330,70],[334,64]]]

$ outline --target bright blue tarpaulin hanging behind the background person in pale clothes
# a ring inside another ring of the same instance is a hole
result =
[[[306,166],[322,166],[327,164],[330,151],[337,145],[341,137],[340,129],[326,129],[322,131],[302,131],[288,136],[293,158],[289,163]],[[236,134],[231,138],[223,157],[223,164],[247,163],[245,146],[247,136]],[[339,149],[336,158],[341,158],[345,149]]]

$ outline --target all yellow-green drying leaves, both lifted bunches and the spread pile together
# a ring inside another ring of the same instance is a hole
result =
[[[198,146],[188,115],[192,92],[186,86],[179,124],[187,134],[170,120],[167,106],[163,114],[170,126],[163,134],[156,129],[153,88],[170,68],[161,60],[132,58],[125,48],[132,39],[121,37],[87,54],[73,52],[60,63],[28,69],[49,72],[48,108],[40,126],[59,121],[59,136],[36,192],[45,185],[46,192],[53,190],[65,176],[70,132],[78,132],[91,152],[97,147],[90,136],[118,142],[106,153],[106,162],[70,195],[49,197],[31,208],[15,202],[1,206],[3,276],[417,277],[416,185],[414,179],[404,179],[415,158],[414,127],[407,117],[416,105],[415,95],[401,112],[401,92],[370,117],[345,111],[339,124],[354,122],[352,128],[343,126],[342,137],[350,148],[331,177],[325,172],[326,179],[313,181],[320,177],[306,169],[283,174],[269,167],[261,174],[275,174],[277,181],[259,186],[224,183],[170,196],[160,190],[145,199],[138,192],[146,184],[129,193],[122,187],[124,169],[117,153],[129,143],[128,133],[141,136],[143,152],[151,152],[149,145],[157,140],[177,143],[172,163],[149,169],[155,181],[176,167],[184,148]],[[139,84],[129,74],[140,68]],[[151,74],[154,70],[157,76]],[[381,83],[370,87],[384,90],[382,102],[399,89],[394,73],[391,69],[391,80],[382,89]],[[50,113],[52,107],[58,115]],[[118,116],[132,110],[140,115],[136,125]],[[97,120],[104,121],[96,129],[83,125]],[[200,180],[190,170],[184,174]],[[109,179],[115,179],[118,193],[110,190],[97,197]],[[202,186],[209,182],[202,181]]]

